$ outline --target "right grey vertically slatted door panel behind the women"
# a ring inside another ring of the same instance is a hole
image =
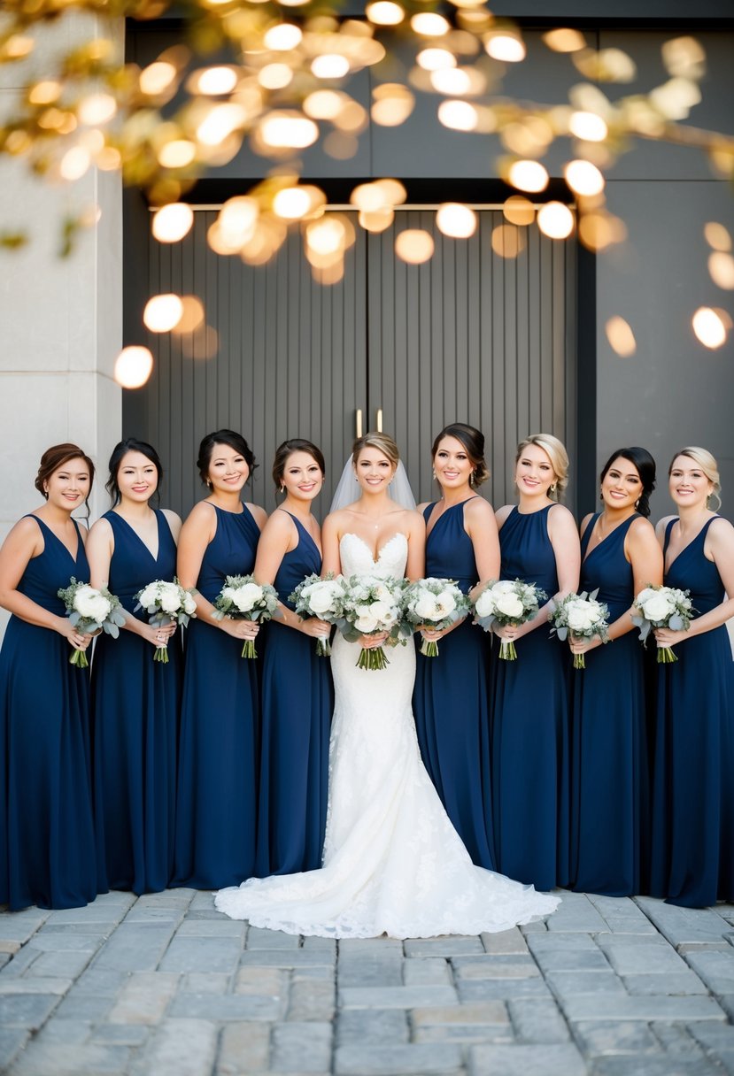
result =
[[[574,454],[574,244],[521,228],[519,255],[503,257],[492,232],[504,223],[482,210],[475,236],[455,241],[433,212],[405,209],[367,241],[370,423],[382,408],[421,500],[435,495],[429,449],[451,421],[483,430],[495,505],[513,498],[516,445],[527,434],[555,434]],[[408,227],[433,236],[430,261],[395,257]]]

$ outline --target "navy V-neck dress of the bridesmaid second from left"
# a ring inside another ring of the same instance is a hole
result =
[[[161,511],[152,552],[117,512],[105,512],[115,544],[110,590],[133,612],[136,594],[175,576],[175,542]],[[168,664],[132,632],[99,636],[91,672],[97,877],[110,889],[155,893],[173,872],[175,764],[181,707],[181,634],[168,643]]]

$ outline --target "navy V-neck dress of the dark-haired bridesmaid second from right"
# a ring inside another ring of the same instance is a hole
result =
[[[624,538],[637,514],[587,556],[598,514],[581,537],[581,591],[598,589],[609,623],[632,605],[635,581]],[[632,631],[585,655],[573,675],[571,883],[585,893],[645,891],[649,778],[644,651]]]

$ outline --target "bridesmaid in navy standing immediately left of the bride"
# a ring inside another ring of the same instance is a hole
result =
[[[263,746],[255,874],[296,874],[321,866],[326,826],[328,738],[334,709],[330,663],[315,639],[322,620],[301,620],[288,595],[321,575],[321,529],[311,505],[324,484],[324,457],[310,441],[284,441],[272,465],[285,494],[263,529],[255,578],[272,583],[280,615],[268,631],[263,659]]]

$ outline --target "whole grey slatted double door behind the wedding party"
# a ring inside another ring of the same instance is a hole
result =
[[[188,511],[202,493],[198,442],[230,427],[262,465],[253,499],[268,510],[277,445],[286,437],[315,441],[328,470],[325,514],[358,410],[365,430],[382,412],[421,499],[433,495],[429,448],[447,422],[484,430],[493,472],[485,490],[495,505],[511,499],[519,438],[545,429],[573,455],[575,245],[523,228],[524,249],[503,258],[492,247],[502,212],[478,215],[469,240],[444,238],[429,209],[399,211],[381,235],[356,227],[344,278],[328,287],[313,283],[297,235],[263,267],[213,254],[206,235],[215,210],[198,211],[182,243],[151,242],[150,293],[198,295],[218,334],[209,359],[190,357],[186,335],[151,334],[154,373],[124,394],[125,433],[150,440],[167,465],[165,502]],[[395,256],[395,235],[408,227],[434,236],[429,263]]]

